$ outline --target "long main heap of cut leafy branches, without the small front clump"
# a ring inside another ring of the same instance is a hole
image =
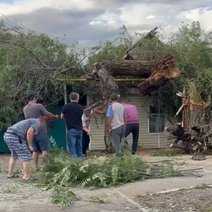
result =
[[[154,173],[154,167],[148,166],[139,156],[124,155],[121,158],[109,156],[76,160],[61,152],[57,155],[52,154],[45,162],[43,176],[48,188],[58,185],[105,188],[155,177],[157,175]],[[167,169],[166,164],[162,164],[160,169],[168,173],[167,176],[171,175],[166,170],[171,172],[175,170],[171,165]],[[164,176],[166,174],[163,174]]]

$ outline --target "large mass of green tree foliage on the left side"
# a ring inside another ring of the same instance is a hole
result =
[[[45,105],[58,102],[63,90],[58,76],[80,76],[81,57],[47,35],[0,25],[0,128],[20,118],[25,94],[38,91]]]

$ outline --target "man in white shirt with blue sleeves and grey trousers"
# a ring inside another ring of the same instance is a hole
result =
[[[113,147],[116,156],[121,155],[121,140],[124,138],[124,106],[118,102],[119,96],[110,96],[111,104],[107,109],[107,131],[112,133]]]

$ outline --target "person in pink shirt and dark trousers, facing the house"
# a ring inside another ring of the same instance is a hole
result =
[[[132,154],[135,155],[138,148],[138,137],[139,137],[139,115],[135,105],[124,103],[124,120],[126,124],[125,138],[132,133]]]

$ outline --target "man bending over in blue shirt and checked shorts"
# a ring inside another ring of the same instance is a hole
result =
[[[14,167],[19,158],[23,161],[23,180],[30,179],[30,161],[33,151],[33,137],[45,128],[47,118],[45,116],[38,119],[26,119],[12,125],[4,134],[4,141],[11,151],[7,177],[14,177]]]

